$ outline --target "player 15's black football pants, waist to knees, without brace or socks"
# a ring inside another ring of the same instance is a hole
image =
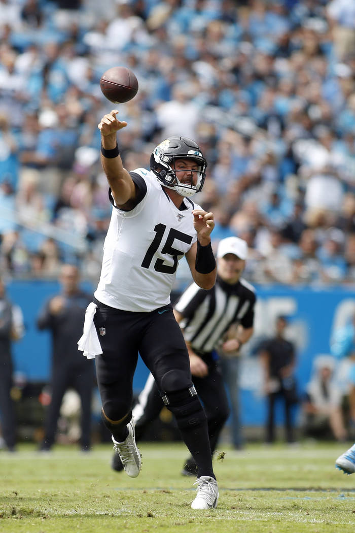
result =
[[[170,305],[149,313],[97,305],[94,323],[103,353],[95,358],[96,376],[106,417],[117,421],[131,409],[138,352],[161,392],[167,392],[163,377],[172,369],[179,370],[177,390],[192,386],[186,344]]]

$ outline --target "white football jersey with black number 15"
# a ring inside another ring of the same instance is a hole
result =
[[[153,311],[170,303],[178,261],[197,240],[191,200],[181,197],[186,209],[178,209],[153,172],[138,168],[147,187],[145,196],[131,211],[112,208],[98,301],[126,311]]]

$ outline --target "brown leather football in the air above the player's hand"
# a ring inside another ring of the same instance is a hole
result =
[[[137,94],[138,80],[129,68],[112,67],[101,76],[100,87],[110,102],[125,103]]]

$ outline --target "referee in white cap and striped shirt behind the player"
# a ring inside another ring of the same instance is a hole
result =
[[[180,296],[174,309],[184,333],[193,383],[208,418],[212,454],[229,416],[217,350],[222,354],[224,369],[235,377],[233,389],[237,391],[234,362],[238,362],[242,344],[253,334],[255,290],[241,277],[246,256],[244,240],[238,237],[222,239],[217,249],[218,273],[214,287],[204,290],[193,283]],[[232,379],[226,379],[226,383],[232,385]],[[233,402],[236,394],[232,390],[229,392],[235,410],[238,408]],[[145,427],[159,415],[162,407],[161,393],[150,374],[133,410],[136,439],[141,438]],[[113,456],[112,468],[122,470],[118,454]],[[197,474],[192,457],[187,459],[182,473]]]

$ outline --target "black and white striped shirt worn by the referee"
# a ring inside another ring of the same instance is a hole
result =
[[[210,290],[190,285],[175,304],[183,316],[180,323],[185,340],[193,350],[209,353],[216,348],[230,325],[251,328],[254,321],[254,287],[241,278],[229,285],[217,277]]]

